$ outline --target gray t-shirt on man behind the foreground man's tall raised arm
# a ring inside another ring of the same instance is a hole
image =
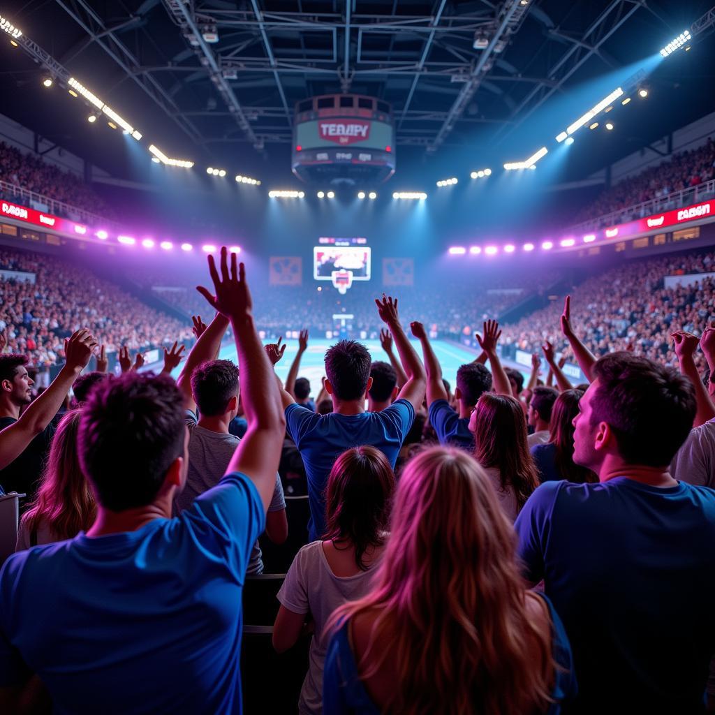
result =
[[[189,472],[182,493],[174,499],[174,513],[179,513],[194,503],[194,499],[204,491],[215,487],[225,475],[233,453],[241,440],[235,435],[213,432],[199,427],[197,417],[191,410],[186,413],[189,428]],[[268,511],[285,509],[283,485],[280,476],[275,475],[275,489]],[[253,545],[248,562],[247,574],[263,573],[261,548]]]

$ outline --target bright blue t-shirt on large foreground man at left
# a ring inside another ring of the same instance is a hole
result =
[[[39,675],[56,715],[241,712],[242,588],[265,528],[233,473],[173,519],[37,546],[0,571],[0,687]]]

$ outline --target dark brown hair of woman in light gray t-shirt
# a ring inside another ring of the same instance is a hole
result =
[[[385,543],[390,518],[390,499],[395,474],[388,458],[374,447],[353,447],[332,465],[325,489],[325,540],[349,541],[355,548],[355,563],[363,563],[365,551]]]

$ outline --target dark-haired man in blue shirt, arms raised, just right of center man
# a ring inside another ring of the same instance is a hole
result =
[[[496,352],[501,331],[495,320],[484,323],[483,337],[476,338],[482,348],[481,355],[473,363],[461,365],[457,370],[457,388],[454,396],[459,403],[459,412],[448,403],[447,389],[442,379],[442,366],[427,337],[427,331],[421,322],[414,322],[412,333],[422,344],[422,354],[427,370],[427,405],[430,410],[430,424],[437,433],[442,445],[452,445],[468,452],[474,451],[474,435],[469,429],[469,418],[479,398],[492,389],[501,395],[511,395],[511,385],[501,360]],[[492,373],[485,368],[489,360]]]

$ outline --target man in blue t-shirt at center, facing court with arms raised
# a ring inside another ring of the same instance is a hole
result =
[[[325,389],[332,398],[332,413],[317,415],[296,405],[283,390],[288,433],[300,450],[310,500],[310,541],[325,533],[325,485],[335,459],[351,447],[372,445],[395,466],[415,410],[425,396],[425,371],[398,317],[398,302],[391,297],[376,301],[380,318],[393,333],[408,380],[398,399],[379,413],[365,412],[373,384],[370,353],[354,340],[340,340],[325,353]]]

